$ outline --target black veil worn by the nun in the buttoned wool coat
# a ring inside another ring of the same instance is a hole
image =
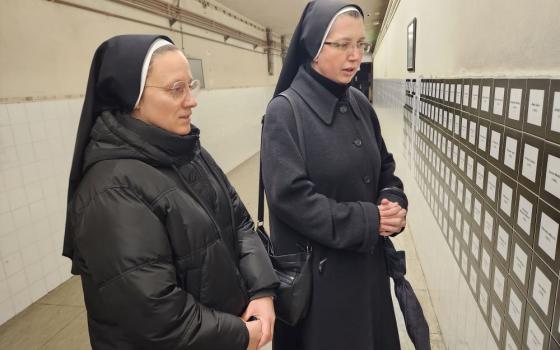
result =
[[[301,65],[311,62],[321,47],[323,36],[331,19],[338,11],[347,6],[355,7],[363,16],[363,11],[358,5],[340,0],[317,0],[307,4],[290,41],[290,47],[286,53],[276,89],[274,89],[274,96],[290,87]]]

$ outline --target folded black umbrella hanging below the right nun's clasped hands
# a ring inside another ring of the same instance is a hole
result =
[[[430,328],[422,306],[406,280],[406,258],[404,251],[396,251],[393,242],[389,238],[385,239],[385,255],[387,257],[387,269],[389,276],[395,284],[395,295],[399,301],[406,332],[412,340],[414,347],[418,350],[430,349]]]

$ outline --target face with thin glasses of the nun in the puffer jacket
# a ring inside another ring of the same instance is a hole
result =
[[[197,105],[188,88],[191,81],[189,62],[181,51],[166,51],[155,56],[133,115],[171,133],[187,135],[191,131],[192,109]],[[181,86],[185,88],[177,88]]]

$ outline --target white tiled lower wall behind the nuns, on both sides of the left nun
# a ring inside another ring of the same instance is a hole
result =
[[[225,172],[259,148],[273,87],[204,90],[193,112]],[[0,104],[0,324],[70,277],[68,174],[83,99]]]

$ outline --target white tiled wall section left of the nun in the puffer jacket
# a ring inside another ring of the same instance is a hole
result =
[[[70,277],[61,242],[81,105],[0,104],[0,323]]]

